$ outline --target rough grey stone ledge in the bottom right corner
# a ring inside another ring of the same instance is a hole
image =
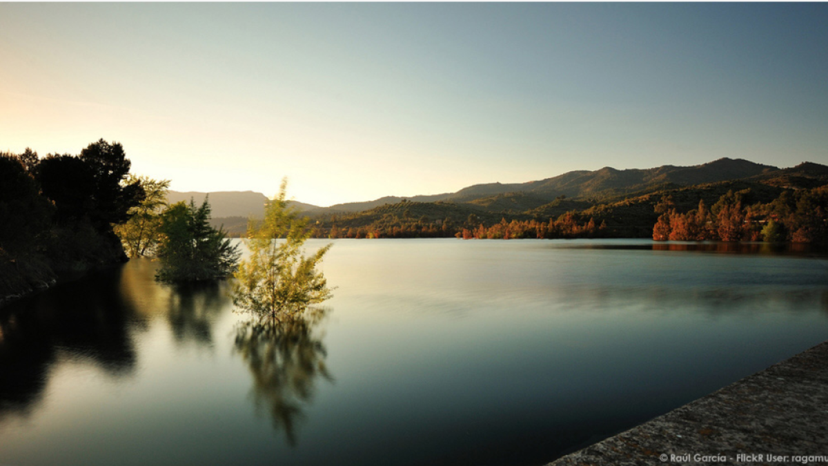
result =
[[[768,454],[828,464],[828,342],[547,466],[807,464]]]

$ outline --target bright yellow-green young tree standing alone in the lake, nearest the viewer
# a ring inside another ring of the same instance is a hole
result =
[[[300,318],[308,306],[331,296],[325,275],[316,269],[331,245],[304,255],[308,220],[287,207],[285,190],[283,181],[264,220],[249,222],[250,255],[236,270],[233,293],[233,303],[243,312],[279,321]]]

